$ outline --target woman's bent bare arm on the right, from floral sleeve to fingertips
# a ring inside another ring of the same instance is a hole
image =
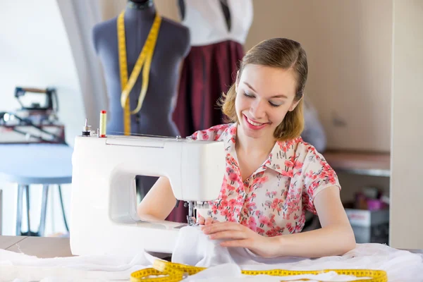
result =
[[[202,226],[223,247],[245,247],[262,257],[327,257],[343,255],[355,248],[355,237],[345,214],[339,188],[326,188],[314,198],[322,228],[288,235],[264,237],[234,222]]]

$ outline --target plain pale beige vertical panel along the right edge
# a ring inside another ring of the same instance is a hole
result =
[[[423,1],[394,0],[390,245],[423,249]]]

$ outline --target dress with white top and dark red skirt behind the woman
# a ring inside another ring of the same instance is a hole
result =
[[[180,135],[186,137],[223,123],[217,105],[235,81],[252,24],[252,0],[183,0],[181,23],[190,30],[191,49],[180,74],[173,111]],[[188,210],[179,204],[168,220],[186,222]]]

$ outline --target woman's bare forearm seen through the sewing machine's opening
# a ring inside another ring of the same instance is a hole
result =
[[[171,183],[168,178],[161,177],[147,192],[137,208],[138,216],[145,220],[164,220],[175,207]]]

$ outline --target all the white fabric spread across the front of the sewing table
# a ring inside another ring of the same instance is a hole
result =
[[[128,281],[133,271],[151,267],[155,257],[145,252],[135,257],[81,256],[39,259],[0,250],[0,281]],[[209,269],[187,281],[280,281],[309,278],[312,281],[352,281],[354,277],[335,273],[319,276],[244,276],[241,269],[381,269],[389,281],[423,281],[423,256],[381,244],[357,244],[343,256],[304,259],[263,258],[243,248],[225,248],[209,240],[198,226],[180,229],[173,262],[206,266]],[[205,279],[205,280],[203,280]],[[314,279],[314,280],[313,280]]]

